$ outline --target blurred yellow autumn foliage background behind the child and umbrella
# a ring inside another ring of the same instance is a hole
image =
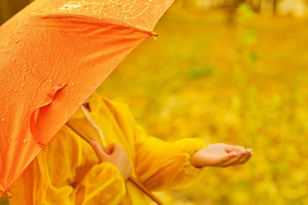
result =
[[[0,0],[0,20],[27,5]],[[167,205],[308,205],[308,0],[176,0],[98,91],[150,135],[254,151]],[[0,199],[6,205],[6,198]]]

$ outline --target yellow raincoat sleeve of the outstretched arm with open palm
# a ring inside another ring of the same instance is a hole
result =
[[[150,190],[183,188],[197,179],[203,169],[194,167],[192,154],[206,146],[203,139],[190,138],[165,142],[149,137],[135,122],[128,106],[113,102],[123,132],[134,138],[135,172]]]

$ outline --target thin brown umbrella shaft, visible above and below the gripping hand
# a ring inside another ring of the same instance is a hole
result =
[[[78,130],[76,130],[69,122],[66,122],[66,125],[73,131],[75,132],[78,136],[80,136],[82,139],[84,139],[87,143],[90,144],[91,139],[86,138],[83,136]],[[138,179],[130,176],[128,178],[129,181],[131,181],[137,188],[139,188],[142,192],[144,192],[148,197],[150,197],[157,205],[164,205],[160,200],[154,196],[154,194],[151,193],[151,191],[145,187],[141,182],[138,181]]]

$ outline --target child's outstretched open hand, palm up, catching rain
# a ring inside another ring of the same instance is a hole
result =
[[[229,167],[245,164],[252,156],[251,149],[227,144],[212,144],[203,147],[191,156],[191,164],[195,167]]]

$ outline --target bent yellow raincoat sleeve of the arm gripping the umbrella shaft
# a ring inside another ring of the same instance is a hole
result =
[[[92,147],[63,127],[37,156],[41,173],[37,181],[48,205],[118,205],[126,192],[118,168],[98,163]]]

